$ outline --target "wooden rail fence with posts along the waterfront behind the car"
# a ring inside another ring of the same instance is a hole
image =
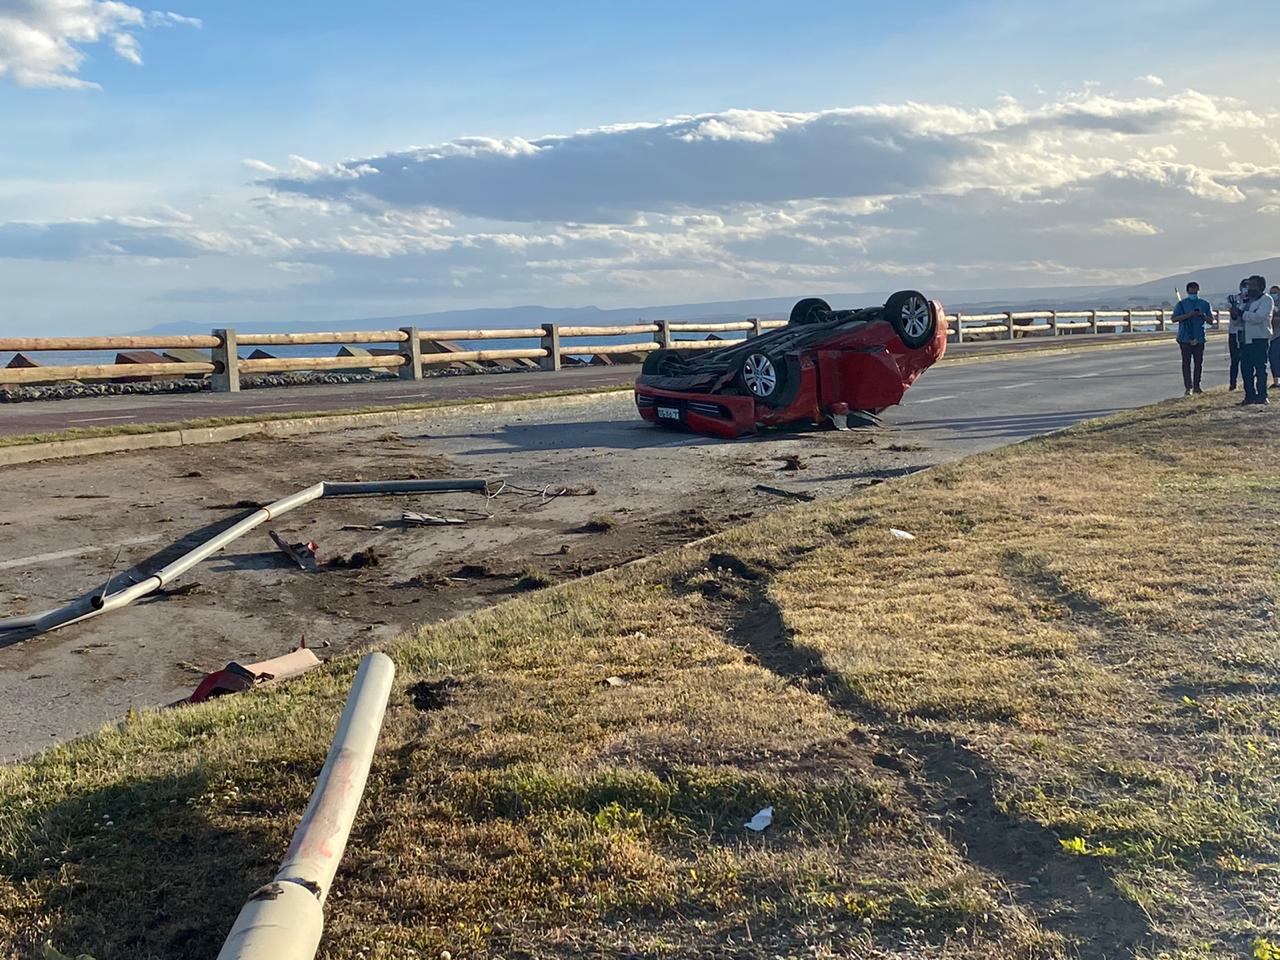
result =
[[[1059,337],[1073,333],[1126,333],[1139,328],[1166,330],[1171,317],[1164,310],[1041,310],[1001,314],[948,314],[950,339],[1015,339]],[[0,338],[0,353],[18,355],[0,369],[0,385],[59,383],[73,380],[137,380],[152,378],[210,378],[218,392],[239,389],[242,375],[291,371],[393,371],[404,380],[419,380],[433,367],[465,365],[472,369],[527,366],[559,370],[585,362],[637,362],[660,347],[713,349],[732,340],[722,334],[758,337],[785,326],[785,320],[750,317],[728,323],[657,320],[622,326],[543,324],[527,328],[481,330],[355,330],[329,333],[243,333],[225,328],[207,335],[172,337],[15,337]],[[682,335],[684,334],[684,335]],[[691,339],[689,334],[714,334]],[[623,342],[618,343],[617,339]],[[476,348],[485,340],[527,340],[529,346],[498,349]],[[581,340],[586,340],[585,343]],[[608,342],[602,342],[608,340]],[[458,344],[471,344],[460,347]],[[334,346],[344,355],[274,357],[262,347]],[[366,349],[370,344],[372,349]],[[243,347],[259,356],[242,357]],[[114,364],[40,366],[26,355],[40,352],[114,351]]]

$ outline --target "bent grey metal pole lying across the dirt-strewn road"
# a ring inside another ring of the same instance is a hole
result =
[[[134,600],[146,596],[150,593],[155,593],[156,590],[160,590],[165,585],[173,582],[202,559],[218,553],[218,550],[223,549],[233,540],[243,536],[253,527],[260,526],[269,520],[274,520],[283,513],[288,513],[291,509],[301,507],[305,503],[311,503],[311,500],[328,497],[372,497],[398,493],[451,492],[488,493],[489,484],[485,480],[385,480],[352,484],[321,481],[319,484],[312,484],[305,490],[298,490],[297,493],[292,493],[275,503],[260,507],[239,522],[229,526],[223,532],[205,540],[205,543],[200,544],[200,547],[188,550],[178,557],[178,559],[161,567],[151,576],[145,580],[140,580],[137,584],[133,584],[124,590],[109,594],[108,588],[110,584],[106,584],[101,590],[95,590],[88,596],[72,600],[67,605],[59,607],[58,609],[0,620],[0,643],[4,641],[5,634],[20,631],[33,636],[36,634],[44,634],[49,630],[55,630],[56,627],[64,627],[68,623],[78,623],[82,620],[96,617],[100,613],[127,607]]]

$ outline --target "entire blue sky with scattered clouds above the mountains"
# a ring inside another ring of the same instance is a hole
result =
[[[1280,252],[1270,0],[164,3],[0,0],[3,335]]]

